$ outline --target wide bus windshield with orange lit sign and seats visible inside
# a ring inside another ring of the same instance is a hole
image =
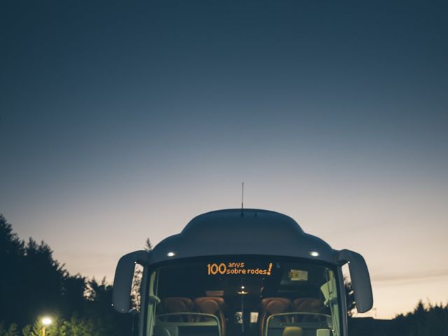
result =
[[[337,336],[336,278],[290,258],[179,260],[152,272],[148,335]]]

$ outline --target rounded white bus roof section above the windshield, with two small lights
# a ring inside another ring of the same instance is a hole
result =
[[[336,262],[325,241],[289,216],[261,209],[226,209],[193,218],[179,235],[160,241],[149,262],[211,255],[278,255]]]

